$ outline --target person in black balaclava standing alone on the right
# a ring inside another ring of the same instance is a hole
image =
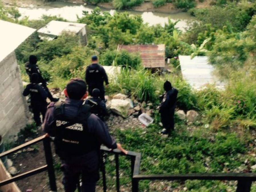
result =
[[[161,122],[163,124],[162,134],[171,134],[174,130],[174,112],[176,107],[178,90],[172,87],[172,84],[166,80],[164,82],[165,93],[162,95],[162,102],[159,108]]]

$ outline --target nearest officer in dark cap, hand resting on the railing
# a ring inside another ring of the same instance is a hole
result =
[[[100,145],[118,148],[127,154],[109,135],[105,124],[84,104],[86,82],[70,80],[64,90],[65,102],[51,103],[44,120],[44,131],[55,137],[56,153],[62,160],[66,192],[74,192],[80,174],[82,191],[95,191],[99,180]]]

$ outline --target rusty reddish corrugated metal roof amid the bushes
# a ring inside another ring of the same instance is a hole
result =
[[[165,45],[119,45],[117,50],[127,50],[129,53],[139,52],[145,68],[164,67]]]

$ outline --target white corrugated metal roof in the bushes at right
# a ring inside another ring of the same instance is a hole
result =
[[[193,88],[201,89],[207,84],[216,84],[224,89],[224,83],[213,74],[214,67],[208,62],[207,56],[196,56],[191,59],[188,55],[179,55],[180,68],[183,79]]]

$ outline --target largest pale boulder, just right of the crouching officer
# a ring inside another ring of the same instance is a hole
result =
[[[122,100],[122,99],[111,100],[111,106],[110,106],[111,111],[124,118],[127,118],[131,113],[129,111],[130,108],[131,108],[131,104],[127,100]]]

